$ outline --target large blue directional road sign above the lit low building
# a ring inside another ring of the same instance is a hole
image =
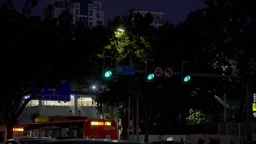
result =
[[[45,84],[40,92],[35,93],[38,100],[56,100],[56,101],[70,101],[71,84],[70,81],[62,81],[62,84],[55,88],[50,88]],[[33,94],[33,92],[32,92]]]

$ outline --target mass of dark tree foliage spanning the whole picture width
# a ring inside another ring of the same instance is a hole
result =
[[[206,8],[192,11],[184,22],[166,22],[156,29],[150,13],[117,16],[109,20],[108,27],[91,28],[81,21],[72,25],[73,17],[68,13],[52,18],[51,6],[42,20],[31,15],[37,0],[27,0],[22,14],[6,0],[0,7],[1,45],[6,50],[2,62],[8,62],[2,64],[5,97],[0,101],[0,121],[10,130],[30,100],[20,107],[31,85],[40,88],[60,80],[74,81],[73,90],[84,90],[92,83],[100,87],[103,94],[96,99],[98,106],[119,108],[123,132],[128,128],[129,96],[132,109],[139,98],[140,126],[147,136],[155,129],[166,131],[176,124],[223,121],[223,106],[214,95],[223,99],[224,93],[231,107],[227,109],[228,121],[245,121],[244,81],[192,77],[183,85],[180,77],[174,76],[147,83],[144,73],[102,80],[103,57],[111,56],[113,65],[131,65],[136,70],[145,70],[146,59],[154,59],[155,66],[171,66],[181,72],[181,63],[188,61],[191,72],[252,76],[255,87],[255,2],[205,3]],[[118,28],[126,32],[118,32]]]

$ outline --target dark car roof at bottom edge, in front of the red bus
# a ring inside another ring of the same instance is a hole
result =
[[[44,144],[147,144],[145,142],[132,142],[124,140],[111,140],[111,139],[65,139]]]

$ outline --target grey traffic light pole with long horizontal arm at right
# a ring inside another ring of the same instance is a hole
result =
[[[143,70],[136,70],[137,73],[143,73]],[[181,72],[174,72],[175,76],[181,76]],[[247,142],[252,140],[252,81],[251,77],[246,76],[232,76],[232,75],[221,75],[221,74],[208,74],[208,73],[190,73],[191,77],[201,78],[216,78],[216,79],[232,79],[246,81],[246,140]]]

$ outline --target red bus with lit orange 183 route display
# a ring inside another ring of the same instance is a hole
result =
[[[41,120],[40,120],[41,118]],[[118,139],[117,121],[86,117],[39,117],[28,123],[26,136]]]

